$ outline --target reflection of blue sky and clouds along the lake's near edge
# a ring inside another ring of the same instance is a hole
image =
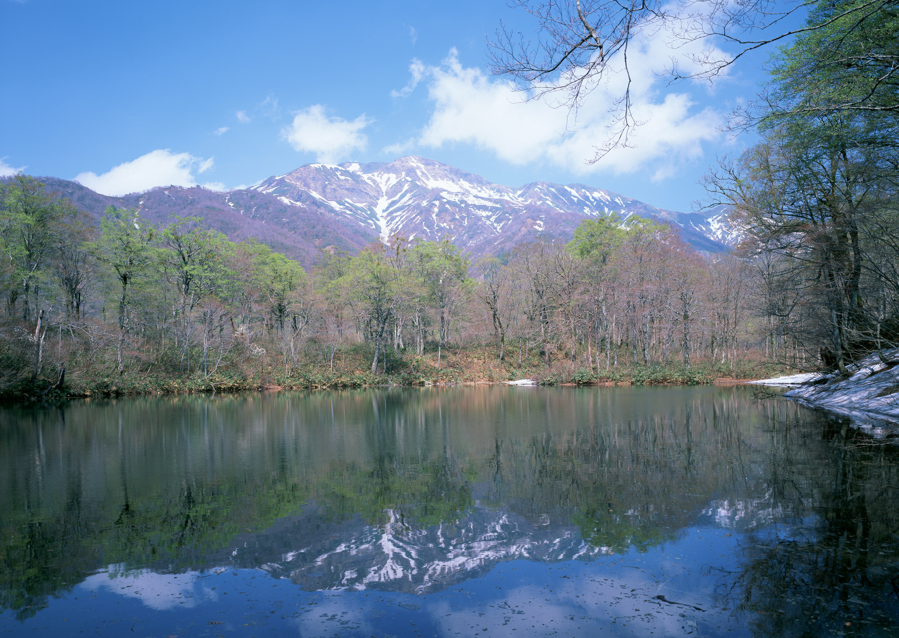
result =
[[[7,612],[0,627],[54,636],[741,636],[749,635],[744,619],[717,607],[715,596],[721,574],[734,569],[738,544],[726,529],[692,527],[645,553],[512,560],[423,595],[310,592],[262,569],[112,570],[50,600],[24,623]]]

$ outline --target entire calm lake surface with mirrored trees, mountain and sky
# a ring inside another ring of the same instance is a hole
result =
[[[0,632],[899,635],[899,448],[753,388],[0,411]]]

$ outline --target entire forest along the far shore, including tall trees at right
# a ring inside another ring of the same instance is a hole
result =
[[[899,16],[868,4],[815,5],[817,26],[771,56],[759,99],[734,111],[758,142],[704,179],[704,204],[728,205],[743,235],[729,254],[611,215],[476,260],[451,237],[395,236],[323,251],[307,272],[199,218],[96,220],[8,178],[0,392],[844,371],[899,345]]]

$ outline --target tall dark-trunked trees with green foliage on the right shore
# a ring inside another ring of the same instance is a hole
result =
[[[761,142],[705,182],[745,228],[771,323],[845,371],[899,343],[899,13],[820,0],[806,27],[770,59]]]

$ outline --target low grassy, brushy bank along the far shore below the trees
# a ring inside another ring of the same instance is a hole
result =
[[[314,351],[313,351],[314,353]],[[530,378],[541,385],[603,384],[680,384],[700,385],[718,379],[743,380],[788,374],[795,370],[782,365],[746,357],[725,362],[699,360],[689,368],[680,362],[645,366],[620,363],[605,368],[573,364],[565,353],[557,353],[547,366],[536,354],[514,353],[500,361],[491,346],[472,345],[428,352],[423,356],[387,351],[387,360],[372,373],[371,349],[355,344],[338,350],[334,362],[308,356],[295,368],[285,369],[274,357],[235,360],[219,366],[210,375],[179,375],[176,371],[153,373],[126,369],[117,374],[111,366],[79,367],[67,371],[61,389],[55,370],[46,370],[36,381],[22,378],[7,385],[2,398],[7,401],[40,401],[78,396],[115,396],[128,394],[186,394],[236,392],[264,389],[352,388],[377,385],[461,385],[499,383]],[[385,365],[386,364],[386,365]],[[112,368],[112,369],[110,369]],[[52,375],[49,373],[53,373]]]

